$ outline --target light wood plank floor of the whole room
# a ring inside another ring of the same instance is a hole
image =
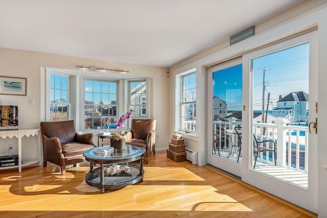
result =
[[[88,186],[89,164],[0,171],[0,217],[315,217],[190,161],[157,152],[144,182],[103,194]]]

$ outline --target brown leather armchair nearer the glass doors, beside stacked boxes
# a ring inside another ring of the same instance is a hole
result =
[[[145,163],[151,153],[155,155],[155,128],[155,119],[132,119],[131,130],[125,136],[126,144],[145,148]]]

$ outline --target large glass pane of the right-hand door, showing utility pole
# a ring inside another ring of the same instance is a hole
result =
[[[253,59],[252,74],[251,167],[307,188],[309,43]],[[284,131],[278,132],[278,125]],[[257,153],[258,148],[268,151]],[[301,181],[270,174],[271,167],[296,172]]]

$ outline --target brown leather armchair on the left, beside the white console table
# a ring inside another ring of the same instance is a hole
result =
[[[66,165],[85,161],[83,153],[96,147],[93,134],[78,134],[74,120],[41,122],[43,144],[43,166],[52,162],[60,166],[61,174],[66,172]]]

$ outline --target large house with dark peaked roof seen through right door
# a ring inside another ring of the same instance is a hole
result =
[[[283,117],[289,123],[308,123],[309,94],[304,91],[291,92],[279,98],[277,107],[272,110],[275,117]]]

